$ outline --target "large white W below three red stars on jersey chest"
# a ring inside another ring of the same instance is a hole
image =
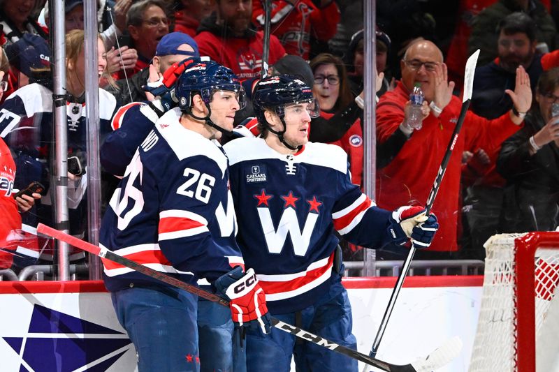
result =
[[[282,218],[279,220],[278,228],[275,230],[272,222],[272,216],[270,216],[270,210],[268,208],[256,209],[258,210],[260,223],[262,225],[264,237],[266,238],[266,245],[268,246],[268,251],[270,251],[270,253],[282,252],[288,232],[291,237],[291,243],[293,244],[293,251],[295,251],[295,254],[304,256],[307,253],[312,230],[314,230],[314,225],[317,224],[317,220],[319,218],[318,214],[307,214],[307,221],[305,221],[303,232],[301,232],[296,211],[295,209],[289,207],[284,209]]]

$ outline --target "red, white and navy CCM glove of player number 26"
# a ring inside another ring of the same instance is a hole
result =
[[[254,269],[242,272],[240,266],[217,278],[214,283],[218,292],[230,300],[231,318],[240,327],[260,329],[270,333],[271,320],[266,307],[266,295],[258,283]]]

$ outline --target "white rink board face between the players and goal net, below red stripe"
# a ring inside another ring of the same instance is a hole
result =
[[[349,290],[358,351],[370,352],[391,293],[389,288]],[[408,364],[426,357],[449,338],[459,336],[462,352],[438,371],[467,372],[480,300],[481,287],[402,288],[377,358],[392,364]],[[359,364],[359,371],[362,369],[363,364]]]

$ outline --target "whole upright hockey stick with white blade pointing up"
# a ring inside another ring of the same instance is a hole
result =
[[[472,54],[470,58],[468,58],[466,61],[466,70],[464,73],[464,95],[462,99],[462,108],[460,109],[460,116],[458,117],[458,121],[456,122],[456,126],[454,127],[454,131],[452,133],[449,145],[447,147],[447,151],[445,152],[444,157],[442,158],[442,163],[439,167],[439,172],[437,173],[437,177],[435,178],[435,182],[433,183],[433,187],[431,188],[429,197],[427,198],[426,214],[429,214],[431,207],[433,207],[433,202],[435,201],[435,196],[437,196],[437,192],[439,191],[442,177],[444,176],[444,172],[446,172],[447,166],[449,165],[450,157],[452,155],[454,145],[456,144],[456,140],[458,140],[458,133],[460,133],[460,129],[464,124],[464,119],[466,117],[467,109],[468,107],[470,107],[470,101],[472,98],[472,87],[474,85],[474,72],[476,69],[478,56],[479,56],[479,50],[474,52],[474,54]],[[396,303],[396,299],[398,299],[398,294],[400,293],[400,289],[404,284],[404,279],[407,276],[407,272],[409,271],[409,266],[412,264],[412,259],[414,258],[415,250],[416,248],[414,245],[412,245],[412,248],[409,249],[407,258],[404,262],[404,265],[402,266],[402,271],[400,271],[400,276],[398,276],[398,281],[396,281],[394,290],[392,291],[392,295],[390,296],[389,304],[386,307],[386,311],[384,311],[384,315],[382,316],[382,322],[379,325],[377,336],[375,336],[375,341],[372,343],[371,351],[369,352],[370,357],[375,357],[377,355],[377,350],[379,350],[380,341],[382,340],[382,336],[384,335],[384,331],[386,330],[386,325],[388,325],[390,315],[392,314],[394,305]]]

